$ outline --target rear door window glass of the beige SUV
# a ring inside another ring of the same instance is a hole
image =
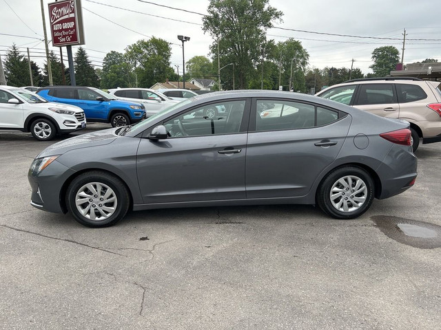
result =
[[[362,84],[356,104],[391,104],[396,102],[393,84]]]

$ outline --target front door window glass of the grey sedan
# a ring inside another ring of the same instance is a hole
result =
[[[238,133],[244,109],[245,100],[207,104],[165,121],[164,126],[170,137]]]

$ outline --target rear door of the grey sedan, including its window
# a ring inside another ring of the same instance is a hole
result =
[[[260,111],[268,104],[270,109]],[[345,113],[307,102],[254,100],[245,170],[247,198],[306,195],[336,159],[350,123]]]

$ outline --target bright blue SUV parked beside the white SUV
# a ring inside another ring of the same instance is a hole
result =
[[[118,127],[133,124],[145,118],[145,107],[142,103],[119,100],[93,87],[41,87],[37,94],[52,102],[80,107],[84,110],[88,122],[110,122],[113,127]]]

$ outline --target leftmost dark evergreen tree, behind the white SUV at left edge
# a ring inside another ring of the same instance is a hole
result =
[[[16,87],[30,85],[28,60],[20,53],[15,44],[6,53],[3,69],[8,85]]]

